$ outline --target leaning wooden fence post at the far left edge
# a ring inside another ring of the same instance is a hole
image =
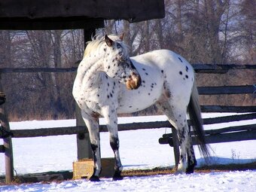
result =
[[[0,74],[0,90],[2,91],[2,79]],[[5,130],[10,130],[7,113],[5,110],[5,104],[0,107],[0,123]],[[14,158],[12,150],[11,136],[4,138],[4,148],[5,148],[5,182],[10,184],[14,178]]]

